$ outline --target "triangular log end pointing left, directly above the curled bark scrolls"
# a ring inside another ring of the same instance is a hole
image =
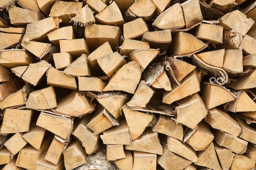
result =
[[[223,67],[224,54],[225,49],[220,49],[200,53],[196,56],[198,56],[198,58],[200,58],[203,62],[206,62],[209,65]]]

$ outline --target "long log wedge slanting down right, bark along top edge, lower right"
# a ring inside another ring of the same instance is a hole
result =
[[[195,150],[193,150],[188,144],[185,144],[173,137],[167,136],[167,148],[170,152],[180,155],[189,161],[198,161]]]

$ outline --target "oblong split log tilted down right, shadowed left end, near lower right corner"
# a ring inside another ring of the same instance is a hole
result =
[[[247,141],[229,135],[225,132],[221,132],[220,130],[213,129],[212,132],[214,134],[214,140],[219,146],[228,148],[229,150],[237,154],[245,153],[248,144]]]

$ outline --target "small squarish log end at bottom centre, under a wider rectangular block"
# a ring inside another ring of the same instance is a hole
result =
[[[124,153],[123,145],[107,145],[106,155],[108,161],[116,161],[117,159],[123,159],[126,157]]]

